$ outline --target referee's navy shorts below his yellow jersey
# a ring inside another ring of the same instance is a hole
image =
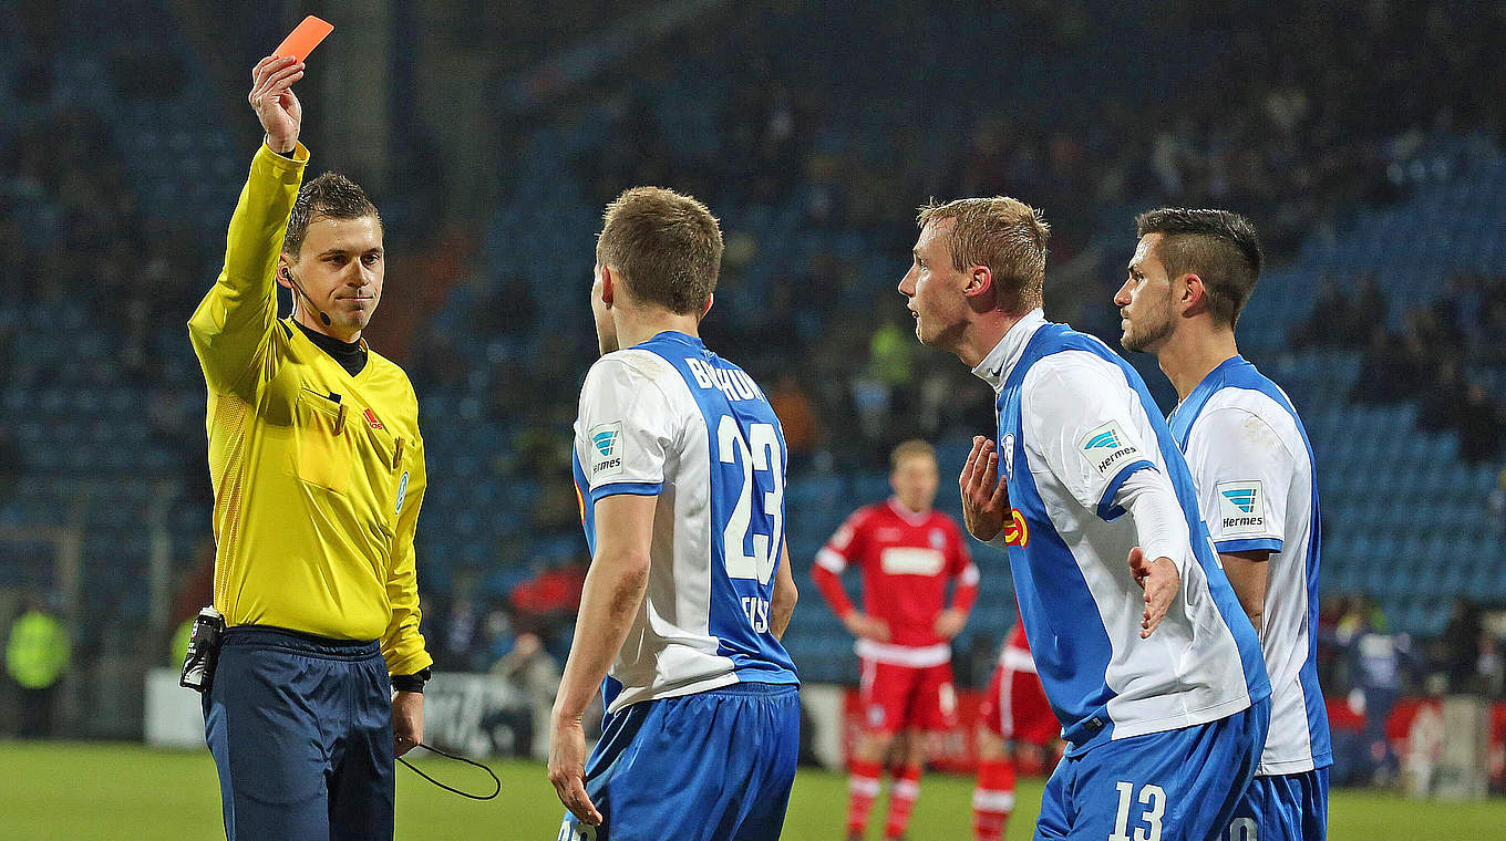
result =
[[[229,841],[392,838],[392,686],[375,641],[227,629],[203,728]]]

